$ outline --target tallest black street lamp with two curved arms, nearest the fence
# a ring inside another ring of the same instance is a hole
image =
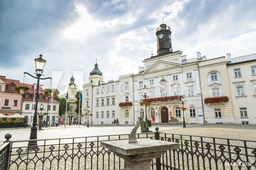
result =
[[[51,77],[47,77],[47,78],[40,78],[40,76],[42,76],[43,73],[43,69],[45,66],[45,62],[46,60],[44,60],[42,58],[42,54],[39,55],[39,58],[35,59],[36,62],[36,76],[33,76],[27,72],[24,72],[24,74],[28,74],[31,77],[37,79],[37,85],[36,85],[36,108],[35,108],[35,113],[34,113],[34,119],[33,119],[33,123],[32,123],[32,127],[31,127],[31,132],[30,132],[30,138],[29,140],[34,140],[37,139],[37,104],[38,104],[38,91],[39,91],[39,80],[45,80],[45,79],[51,79]],[[37,146],[37,141],[29,141],[28,146]]]

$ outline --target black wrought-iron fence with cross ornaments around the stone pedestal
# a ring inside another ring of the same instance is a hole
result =
[[[168,150],[153,159],[152,170],[160,169],[256,169],[256,141],[208,136],[140,133],[137,138],[177,142],[178,149]],[[125,140],[129,134],[36,140],[7,141],[1,145],[2,169],[108,169],[124,170],[124,161],[112,151],[100,147],[101,141]],[[231,165],[231,166],[230,166]]]

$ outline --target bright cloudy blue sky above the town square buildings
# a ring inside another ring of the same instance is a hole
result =
[[[23,72],[35,75],[42,54],[42,78],[52,77],[40,80],[44,88],[65,93],[73,75],[82,89],[96,59],[103,81],[117,81],[157,55],[162,22],[172,31],[173,51],[187,58],[198,51],[207,59],[254,54],[255,7],[255,0],[1,0],[0,75],[36,83]]]

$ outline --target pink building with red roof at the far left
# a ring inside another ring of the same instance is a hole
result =
[[[20,114],[22,95],[14,91],[19,86],[19,80],[6,79],[0,76],[0,113],[4,115]],[[3,121],[16,120],[16,118],[2,118]],[[1,120],[1,118],[0,118]]]

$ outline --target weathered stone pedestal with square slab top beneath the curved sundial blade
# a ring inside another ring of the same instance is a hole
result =
[[[136,143],[129,140],[104,141],[100,146],[107,148],[124,159],[126,170],[151,169],[151,161],[160,158],[166,150],[179,148],[178,143],[154,139],[137,139]]]

